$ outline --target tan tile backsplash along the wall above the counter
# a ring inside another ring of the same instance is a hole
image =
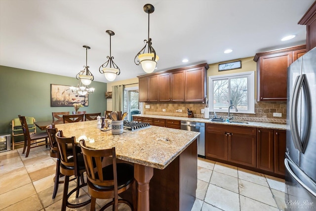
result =
[[[204,109],[204,103],[144,103],[150,105],[150,108],[145,108],[144,113],[152,115],[179,116],[187,117],[187,108],[193,111],[194,117],[203,118],[201,109]],[[165,109],[165,112],[162,111]],[[176,110],[182,110],[177,112]],[[273,113],[281,113],[282,117],[273,117]],[[227,113],[217,112],[217,116],[227,117]],[[210,118],[213,118],[213,113],[210,113]],[[286,102],[255,102],[255,114],[238,114],[234,113],[235,120],[255,121],[255,122],[270,122],[270,123],[286,123]]]

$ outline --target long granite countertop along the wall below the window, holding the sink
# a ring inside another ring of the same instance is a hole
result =
[[[286,130],[286,124],[276,124],[276,123],[266,123],[266,122],[246,121],[248,124],[238,124],[238,123],[216,123],[216,122],[212,122],[211,119],[203,119],[203,118],[188,118],[188,117],[162,116],[162,115],[151,115],[151,114],[136,114],[133,116],[158,118],[158,119],[166,119],[166,120],[190,121],[190,122],[199,122],[199,123],[211,123],[211,124],[220,124],[220,125],[261,127],[261,128]]]

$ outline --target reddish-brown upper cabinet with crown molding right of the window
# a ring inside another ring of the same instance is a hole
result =
[[[286,101],[287,68],[306,52],[306,45],[297,45],[256,53],[257,101]]]

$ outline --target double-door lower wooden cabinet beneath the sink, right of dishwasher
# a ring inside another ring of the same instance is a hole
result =
[[[206,124],[205,156],[256,167],[256,128]]]

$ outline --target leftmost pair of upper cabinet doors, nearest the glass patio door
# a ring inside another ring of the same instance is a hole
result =
[[[158,76],[139,78],[139,102],[158,102]]]

